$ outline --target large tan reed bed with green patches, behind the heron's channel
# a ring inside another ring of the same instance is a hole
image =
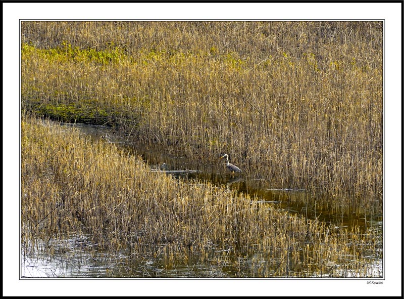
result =
[[[381,22],[21,28],[23,108],[120,125],[205,162],[229,153],[272,186],[381,201]]]

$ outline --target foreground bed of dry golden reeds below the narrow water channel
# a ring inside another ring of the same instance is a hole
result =
[[[369,267],[381,259],[372,230],[362,235],[355,227],[268,209],[226,188],[178,181],[150,171],[115,144],[30,116],[23,115],[21,132],[26,254],[43,248],[53,254],[49,241],[90,235],[86,242],[113,259],[129,250],[172,269],[197,256],[198,265],[220,270],[217,275],[370,276]],[[125,271],[111,275],[131,275]]]

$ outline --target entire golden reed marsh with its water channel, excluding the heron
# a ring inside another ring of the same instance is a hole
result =
[[[21,276],[383,277],[382,29],[22,22]]]

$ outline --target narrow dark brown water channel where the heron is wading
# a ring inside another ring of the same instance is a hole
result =
[[[271,204],[273,208],[302,214],[307,219],[317,218],[335,226],[359,225],[363,230],[382,221],[382,202],[375,202],[369,207],[362,201],[348,200],[342,196],[336,200],[335,197],[313,195],[302,188],[272,186],[271,182],[249,177],[245,172],[237,173],[239,175],[232,178],[226,163],[219,163],[220,157],[218,157],[219,165],[206,164],[197,160],[188,160],[178,150],[161,147],[146,148],[141,144],[128,142],[105,126],[86,124],[75,124],[75,126],[94,139],[108,136],[107,142],[116,143],[129,154],[140,156],[151,169],[163,170],[175,178],[226,186]]]

